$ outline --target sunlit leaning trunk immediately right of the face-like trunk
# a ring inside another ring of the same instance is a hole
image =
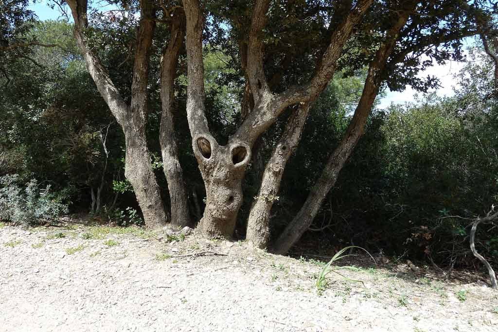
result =
[[[310,104],[301,105],[287,120],[282,139],[277,143],[266,164],[259,193],[251,207],[246,239],[256,247],[265,248],[270,239],[269,217],[276,201],[285,164],[294,153],[308,117]]]

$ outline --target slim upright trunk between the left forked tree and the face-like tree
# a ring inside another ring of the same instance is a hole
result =
[[[176,8],[171,17],[171,39],[162,54],[160,93],[162,114],[159,140],[163,170],[168,182],[171,201],[171,224],[181,227],[191,224],[188,195],[183,182],[183,171],[178,160],[178,142],[175,135],[173,113],[174,80],[184,37],[185,14],[182,8]]]

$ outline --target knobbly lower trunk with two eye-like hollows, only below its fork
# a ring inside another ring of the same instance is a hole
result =
[[[212,238],[231,238],[242,205],[242,179],[250,160],[244,142],[220,146],[207,134],[194,137],[194,153],[206,187],[201,232]]]

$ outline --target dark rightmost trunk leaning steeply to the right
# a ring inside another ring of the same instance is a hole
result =
[[[394,26],[387,32],[384,43],[377,50],[375,58],[370,64],[362,97],[360,98],[358,107],[356,108],[355,114],[351,119],[343,139],[329,157],[320,178],[309,193],[303,207],[276,240],[272,248],[275,253],[286,253],[309,228],[311,222],[318,213],[323,200],[334,186],[339,172],[351,156],[358,140],[363,134],[367,117],[372,111],[373,102],[375,101],[375,97],[378,94],[382,82],[382,70],[396,43],[399,31],[404,26],[407,19],[407,11],[402,12]]]

